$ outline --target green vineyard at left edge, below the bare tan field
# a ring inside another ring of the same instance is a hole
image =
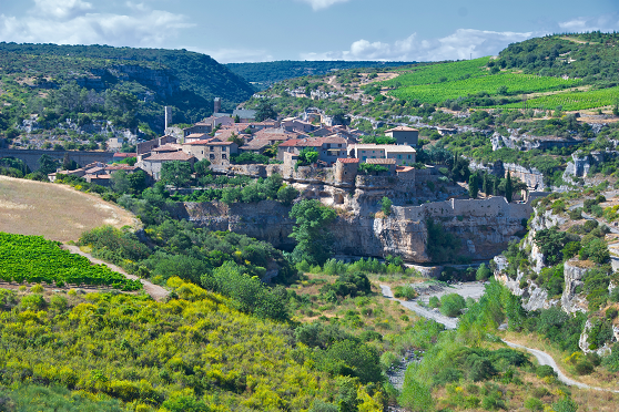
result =
[[[0,231],[0,279],[4,281],[111,286],[130,291],[142,288],[139,280],[126,279],[104,265],[91,265],[85,257],[59,247],[60,243],[41,236]]]

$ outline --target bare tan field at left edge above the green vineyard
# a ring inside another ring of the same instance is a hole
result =
[[[69,241],[102,225],[136,227],[139,220],[69,186],[0,176],[0,231]]]

